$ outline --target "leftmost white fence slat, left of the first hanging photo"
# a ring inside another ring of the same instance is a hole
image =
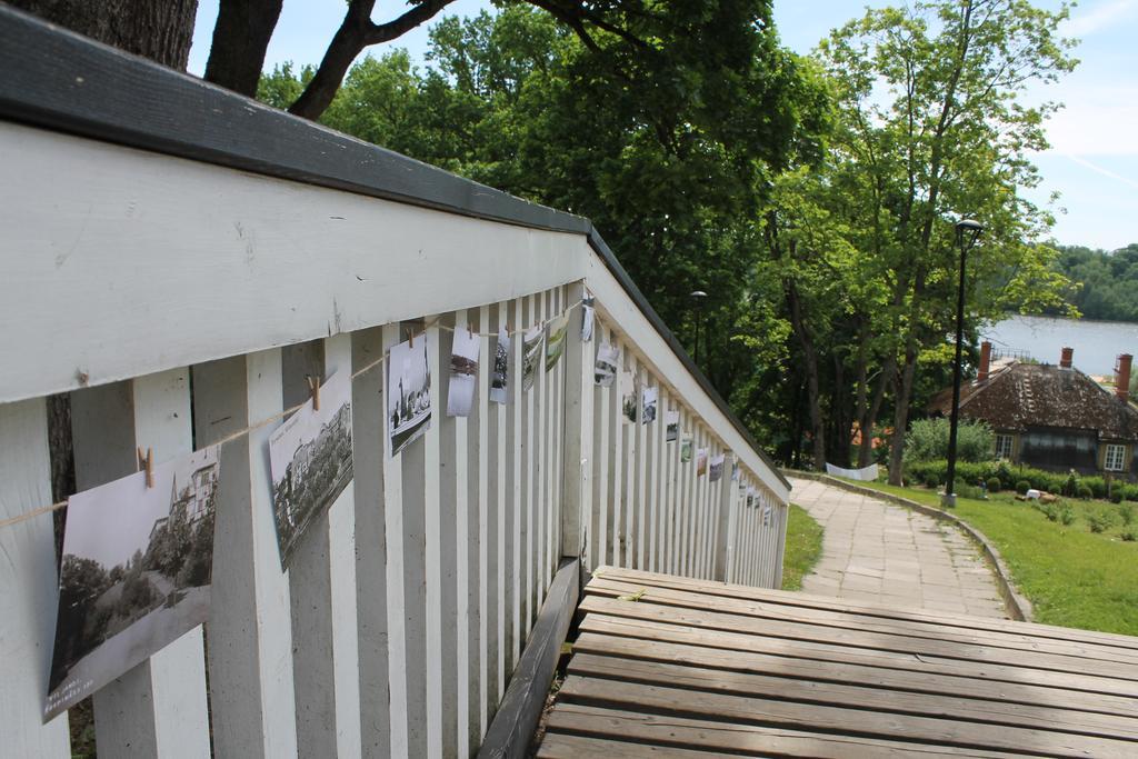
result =
[[[43,398],[0,404],[0,519],[51,502]],[[52,514],[0,529],[0,734],[13,757],[71,756],[67,715],[41,724],[59,583]]]

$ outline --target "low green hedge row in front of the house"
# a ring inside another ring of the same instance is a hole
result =
[[[906,479],[921,482],[927,487],[939,487],[945,484],[948,473],[947,461],[922,461],[905,465]],[[1097,475],[1082,477],[1075,473],[1064,475],[1062,472],[1048,472],[1031,467],[1015,467],[1006,461],[983,461],[983,462],[956,462],[957,493],[960,493],[960,485],[979,486],[986,482],[989,490],[999,485],[1001,490],[1016,489],[1023,492],[1028,487],[1047,493],[1056,493],[1080,498],[1105,498],[1107,497],[1106,480]],[[1122,501],[1138,501],[1138,485],[1120,482],[1115,480],[1111,490],[1111,500],[1115,503]]]

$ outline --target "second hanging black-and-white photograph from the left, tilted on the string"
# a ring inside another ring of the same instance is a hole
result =
[[[297,541],[352,481],[352,380],[333,376],[269,438],[273,517],[281,564],[288,567]]]

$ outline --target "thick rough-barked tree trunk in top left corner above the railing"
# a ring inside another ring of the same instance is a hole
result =
[[[198,0],[8,0],[64,28],[185,71]]]

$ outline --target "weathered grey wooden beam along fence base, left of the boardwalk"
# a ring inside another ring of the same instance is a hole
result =
[[[485,759],[520,759],[545,707],[545,696],[569,632],[579,593],[580,562],[562,563],[550,585],[545,604],[526,642],[518,668],[510,678],[505,698],[483,742],[478,756]]]

